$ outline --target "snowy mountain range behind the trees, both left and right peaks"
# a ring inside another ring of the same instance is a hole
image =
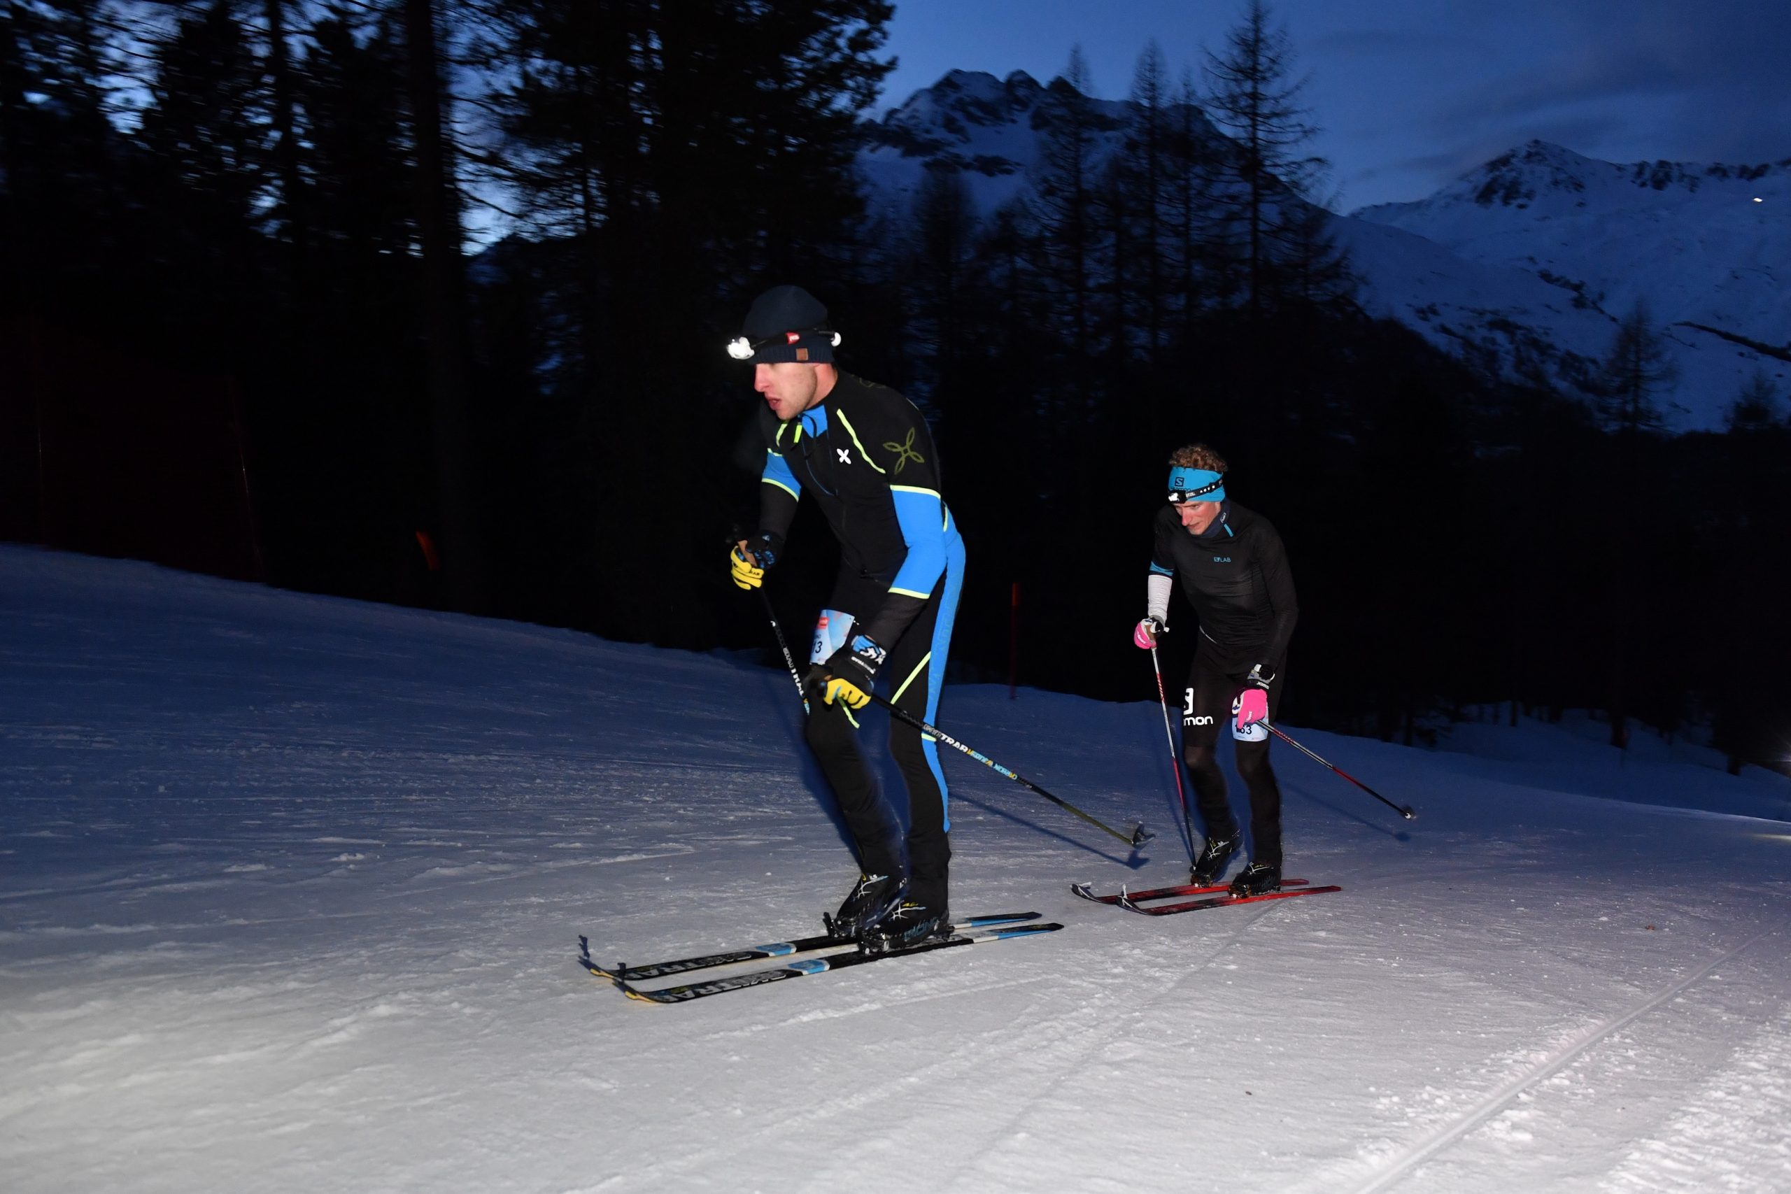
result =
[[[865,125],[858,165],[874,206],[910,209],[930,163],[955,166],[983,217],[1023,197],[1044,98],[1024,72],[962,70],[908,97]],[[1093,107],[1101,161],[1123,145],[1130,104]],[[1791,394],[1791,158],[1612,165],[1531,141],[1429,199],[1334,217],[1333,229],[1365,310],[1513,376],[1540,369],[1576,392],[1646,301],[1678,369],[1660,396],[1667,428],[1721,428],[1757,371]]]

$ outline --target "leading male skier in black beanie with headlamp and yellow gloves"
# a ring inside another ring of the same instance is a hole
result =
[[[938,489],[926,419],[888,387],[833,365],[840,337],[801,286],[761,294],[727,345],[750,360],[765,397],[758,530],[734,544],[734,584],[758,589],[784,550],[797,499],[815,501],[840,541],[840,571],[815,625],[804,738],[840,800],[860,877],[829,931],[867,949],[946,934],[951,859],[938,746],[890,720],[890,754],[908,784],[908,834],[858,754],[854,711],[878,673],[892,700],[931,721],[964,584],[964,539]]]

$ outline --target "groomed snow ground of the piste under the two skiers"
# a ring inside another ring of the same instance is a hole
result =
[[[953,686],[1148,863],[947,755],[956,909],[1062,933],[652,1006],[577,934],[777,940],[853,877],[781,671],[23,548],[0,616],[11,1194],[1791,1189],[1775,775],[1293,729],[1418,820],[1277,748],[1343,891],[1146,918],[1067,884],[1186,874],[1155,702]]]

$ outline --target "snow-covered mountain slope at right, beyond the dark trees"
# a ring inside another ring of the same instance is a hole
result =
[[[1680,367],[1675,426],[1719,424],[1757,369],[1780,394],[1791,381],[1791,159],[1612,165],[1531,141],[1429,199],[1354,217],[1553,286],[1551,304],[1519,297],[1503,313],[1567,351],[1601,354],[1612,322],[1646,303]],[[1381,304],[1413,322],[1426,295],[1374,252],[1361,260]],[[1603,338],[1587,345],[1594,324],[1562,308],[1598,313]]]

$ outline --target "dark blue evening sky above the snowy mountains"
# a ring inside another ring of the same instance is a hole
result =
[[[1123,98],[1155,38],[1171,77],[1243,0],[897,0],[885,107],[953,68],[1041,82],[1076,43]],[[1279,0],[1341,209],[1418,199],[1528,141],[1605,161],[1791,158],[1791,0]]]

